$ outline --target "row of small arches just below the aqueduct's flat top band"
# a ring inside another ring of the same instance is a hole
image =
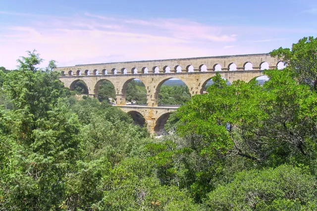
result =
[[[238,67],[235,63],[229,63],[229,65],[222,67],[221,64],[215,63],[209,68],[206,64],[201,64],[196,68],[194,65],[189,64],[185,67],[180,65],[176,66],[154,66],[137,68],[133,67],[128,69],[126,67],[112,69],[86,69],[82,66],[75,66],[70,68],[57,68],[57,71],[61,73],[62,76],[90,76],[90,75],[126,75],[126,74],[169,74],[169,73],[194,73],[194,72],[213,72],[213,71],[252,71],[252,70],[268,70],[268,69],[283,69],[285,67],[284,62],[279,61],[273,66],[270,66],[267,61],[261,62],[260,66],[254,66],[253,63],[247,61],[242,67]],[[83,68],[83,69],[82,69]],[[77,70],[74,70],[77,69]]]

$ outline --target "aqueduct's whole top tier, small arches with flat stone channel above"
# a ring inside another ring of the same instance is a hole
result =
[[[261,70],[267,62],[270,68],[277,66],[278,60],[269,54],[248,54],[234,56],[212,56],[184,59],[165,59],[150,61],[113,62],[102,64],[84,64],[71,67],[56,68],[65,76],[74,75],[125,75],[125,74],[168,74],[176,72],[212,72],[220,65],[223,71],[228,71],[231,64],[237,70],[245,70],[246,64],[251,63],[253,70]]]

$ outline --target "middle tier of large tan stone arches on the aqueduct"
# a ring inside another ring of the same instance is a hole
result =
[[[263,75],[263,71],[226,71],[218,72],[222,78],[227,79],[232,83],[236,80],[245,82],[251,81],[253,78]],[[127,84],[134,79],[140,80],[147,92],[147,105],[154,107],[158,106],[158,93],[161,85],[169,79],[181,80],[187,85],[190,95],[201,94],[206,83],[215,76],[215,72],[201,72],[192,74],[171,73],[166,75],[155,74],[134,74],[134,75],[100,75],[100,76],[74,76],[60,77],[60,81],[65,87],[74,88],[74,84],[78,81],[83,81],[87,85],[88,94],[98,97],[100,84],[103,81],[108,81],[113,84],[117,105],[125,105],[125,93]]]

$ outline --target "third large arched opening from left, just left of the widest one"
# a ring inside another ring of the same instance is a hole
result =
[[[127,105],[147,105],[147,89],[139,79],[130,79],[123,84],[122,94]]]

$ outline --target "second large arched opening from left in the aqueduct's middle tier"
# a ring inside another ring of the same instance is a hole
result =
[[[98,94],[99,101],[106,100],[111,105],[116,105],[115,88],[110,81],[106,79],[98,81],[95,86],[95,93]]]

